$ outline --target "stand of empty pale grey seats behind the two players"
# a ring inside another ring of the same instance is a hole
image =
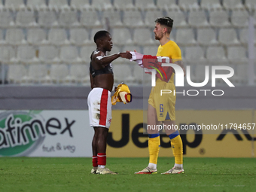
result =
[[[155,54],[159,42],[154,40],[154,20],[169,16],[174,20],[171,39],[181,47],[184,61],[229,63],[238,75],[236,81],[245,82],[246,67],[242,66],[248,61],[248,17],[252,15],[256,25],[255,8],[254,0],[0,0],[0,61],[11,66],[5,77],[8,83],[88,85],[86,68],[97,31],[111,32],[111,53],[136,49]],[[121,63],[128,67],[127,81],[142,84],[136,65],[129,66],[124,59],[114,62]],[[202,66],[193,69],[197,81],[203,79]],[[16,67],[24,77],[14,77]],[[59,77],[57,70],[66,75]]]

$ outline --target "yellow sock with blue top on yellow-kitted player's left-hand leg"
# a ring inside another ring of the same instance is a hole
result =
[[[152,136],[155,136],[152,138]],[[150,134],[148,138],[149,163],[157,164],[157,158],[160,148],[159,134]]]

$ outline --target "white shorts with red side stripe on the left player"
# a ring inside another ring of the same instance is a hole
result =
[[[93,88],[88,98],[90,126],[102,126],[109,128],[111,115],[111,92],[103,88]]]

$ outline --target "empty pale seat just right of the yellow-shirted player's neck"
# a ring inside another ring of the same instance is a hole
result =
[[[193,29],[177,29],[176,31],[176,43],[179,45],[195,44],[196,40],[194,37]]]

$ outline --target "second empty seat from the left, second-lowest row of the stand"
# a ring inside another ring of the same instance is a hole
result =
[[[35,48],[31,45],[20,45],[17,48],[17,59],[20,62],[36,62],[38,59],[35,58]]]

